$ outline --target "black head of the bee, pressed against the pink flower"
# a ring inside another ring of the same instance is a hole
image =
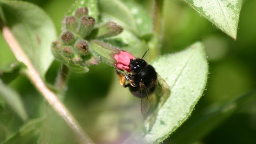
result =
[[[133,74],[138,74],[147,65],[148,64],[145,60],[137,58],[137,59],[131,59],[129,67]]]

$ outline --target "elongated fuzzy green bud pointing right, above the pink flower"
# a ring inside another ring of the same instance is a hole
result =
[[[106,38],[122,33],[123,27],[118,26],[117,23],[109,21],[98,28],[97,38]]]

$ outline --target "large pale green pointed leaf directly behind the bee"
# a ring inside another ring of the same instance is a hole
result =
[[[149,119],[138,130],[139,133],[143,133],[142,138],[137,136],[137,133],[126,143],[132,143],[134,139],[145,143],[163,141],[186,121],[203,94],[208,64],[201,42],[189,46],[182,52],[162,55],[154,60],[152,65],[170,86],[171,95],[162,107],[157,108],[158,115],[153,127],[149,130]]]

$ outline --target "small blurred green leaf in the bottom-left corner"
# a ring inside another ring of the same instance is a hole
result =
[[[29,143],[30,140],[36,137],[41,131],[43,122],[44,118],[31,119],[27,124],[21,127],[17,134],[5,141],[3,144]]]

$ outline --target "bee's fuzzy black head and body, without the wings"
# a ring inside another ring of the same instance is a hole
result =
[[[135,85],[127,85],[135,97],[147,98],[155,92],[157,73],[153,66],[143,59],[132,59],[129,65],[132,75],[130,81]]]

